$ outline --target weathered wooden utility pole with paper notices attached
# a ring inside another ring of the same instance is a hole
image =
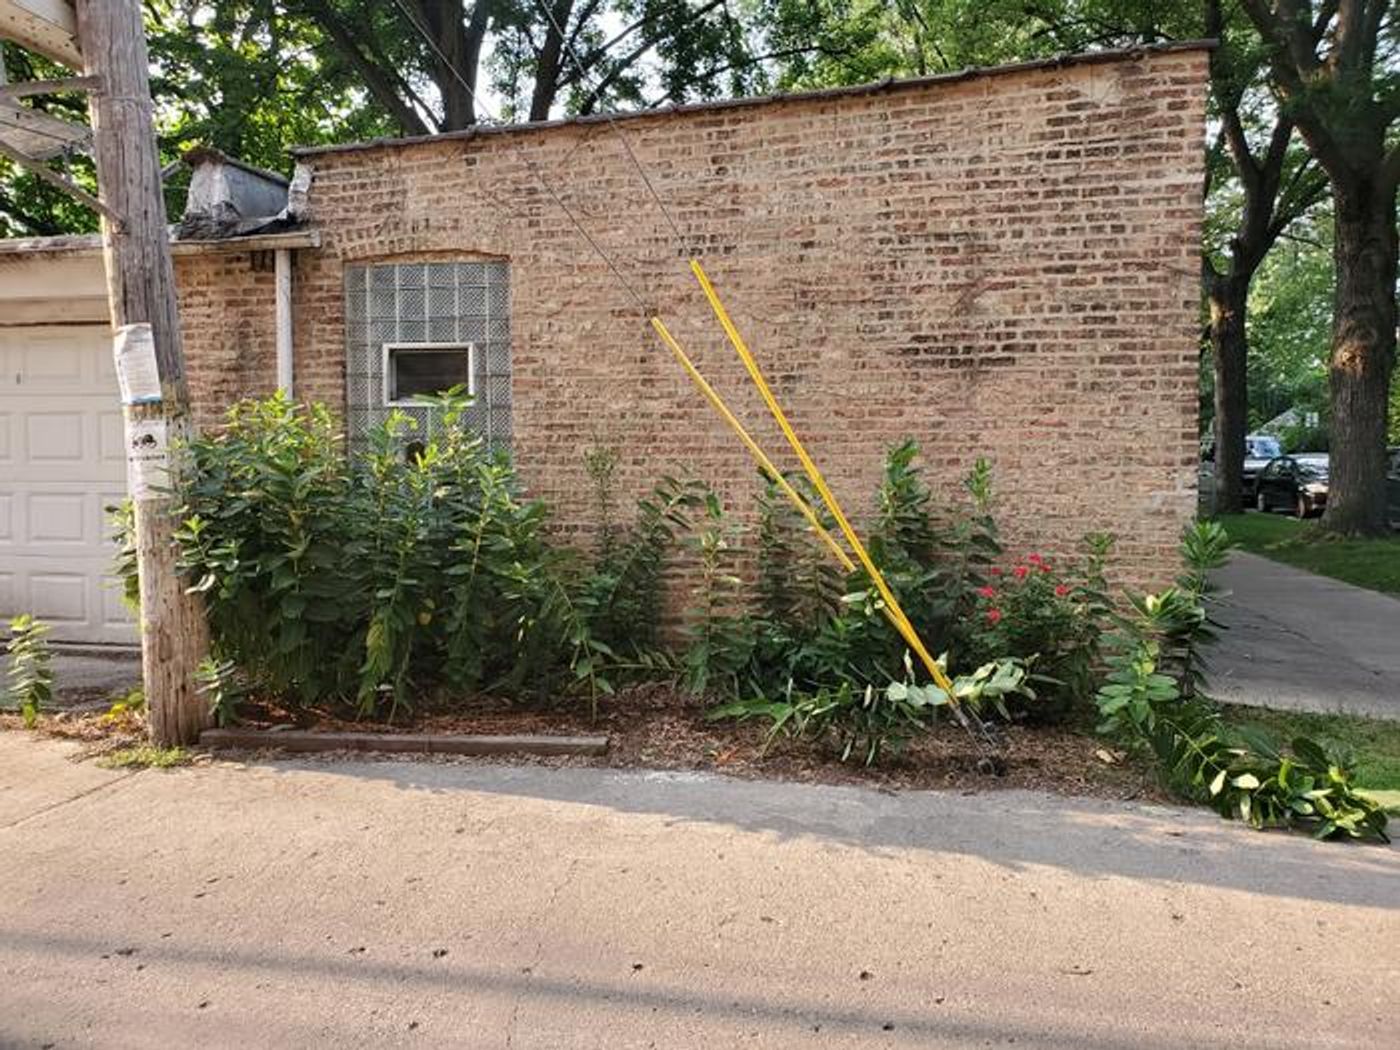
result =
[[[168,449],[178,452],[192,427],[139,0],[77,0],[77,38],[85,73],[98,81],[88,108],[106,206],[102,253],[112,329],[132,350],[136,393],[123,400],[134,402],[125,406],[127,479],[136,501],[151,738],[165,746],[193,743],[210,724],[209,704],[195,687],[209,629],[202,602],[185,592],[175,567],[172,500],[161,487],[165,466],[176,466]],[[153,374],[143,378],[143,365]]]

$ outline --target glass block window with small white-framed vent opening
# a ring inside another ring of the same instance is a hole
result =
[[[511,441],[510,267],[503,262],[346,267],[346,421],[351,444],[398,409],[433,426],[416,393],[465,384],[466,423]]]

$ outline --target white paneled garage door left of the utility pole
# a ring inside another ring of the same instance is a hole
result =
[[[105,325],[0,328],[0,615],[59,641],[136,641],[104,507],[126,489]]]

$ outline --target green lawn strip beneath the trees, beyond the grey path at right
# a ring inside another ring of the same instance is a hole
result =
[[[1400,535],[1343,539],[1278,514],[1226,514],[1221,524],[1239,547],[1368,591],[1400,595]]]

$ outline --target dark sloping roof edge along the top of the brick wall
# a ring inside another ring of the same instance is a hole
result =
[[[413,134],[403,137],[367,139],[357,143],[328,143],[325,146],[294,146],[293,157],[322,157],[336,153],[356,153],[360,150],[384,150],[405,146],[421,146],[424,143],[458,141],[475,139],[480,134],[514,134],[542,132],[554,127],[568,127],[573,125],[595,125],[610,120],[643,120],[647,118],[672,116],[675,113],[697,113],[724,109],[741,109],[745,106],[773,105],[778,102],[809,102],[823,98],[855,98],[861,95],[875,95],[886,91],[906,91],[921,87],[941,84],[958,84],[980,77],[1001,77],[1014,73],[1029,73],[1036,70],[1067,69],[1072,66],[1093,66],[1109,62],[1127,62],[1142,59],[1148,55],[1172,55],[1176,52],[1214,50],[1219,46],[1215,39],[1172,41],[1169,43],[1145,43],[1138,48],[1117,48],[1113,50],[1074,52],[1054,55],[1047,59],[1029,59],[1026,62],[1012,62],[1002,66],[969,66],[951,73],[935,73],[927,77],[907,77],[903,80],[886,77],[885,80],[868,84],[851,84],[844,87],[816,88],[811,91],[791,91],[771,95],[746,95],[743,98],[722,98],[706,102],[682,102],[679,105],[658,106],[655,109],[631,109],[608,113],[589,113],[588,116],[568,116],[557,120],[529,120],[510,125],[472,125],[456,132],[438,132],[437,134]]]

